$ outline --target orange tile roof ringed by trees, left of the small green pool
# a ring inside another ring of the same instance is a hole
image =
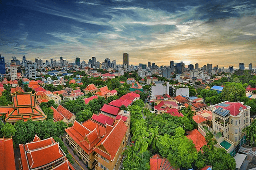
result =
[[[204,145],[207,144],[204,136],[197,129],[187,131],[186,133],[188,134],[186,137],[193,141],[198,152]]]

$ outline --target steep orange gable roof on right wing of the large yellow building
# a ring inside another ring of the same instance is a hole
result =
[[[110,133],[101,139],[94,151],[112,161],[120,145],[122,145],[127,128],[124,121],[120,119]]]

